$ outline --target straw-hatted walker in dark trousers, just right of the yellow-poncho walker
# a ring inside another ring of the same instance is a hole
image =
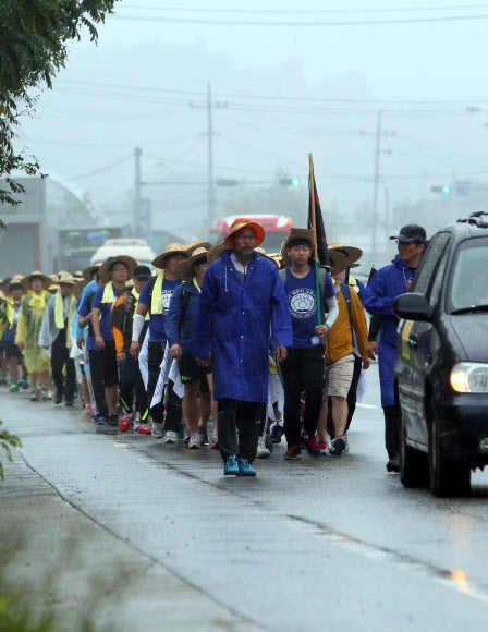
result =
[[[39,344],[51,349],[51,370],[56,386],[54,403],[72,406],[76,392],[76,369],[70,357],[71,333],[69,324],[76,312],[73,296],[74,279],[69,272],[59,278],[59,289],[49,300],[42,316]],[[63,377],[65,370],[65,379]]]

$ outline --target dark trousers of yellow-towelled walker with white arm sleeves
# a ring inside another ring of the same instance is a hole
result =
[[[155,394],[156,385],[158,384],[159,374],[161,373],[161,362],[164,356],[164,342],[149,342],[147,352],[147,368],[149,377],[147,381],[147,402],[150,405],[152,396]],[[182,408],[181,398],[173,390],[174,384],[170,380],[167,386],[168,411],[166,414],[164,429],[166,432],[179,433],[182,423]],[[162,424],[164,421],[164,403],[163,398],[155,406],[150,408],[150,416],[157,424]]]

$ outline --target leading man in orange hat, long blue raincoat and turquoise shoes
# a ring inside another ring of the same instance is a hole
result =
[[[224,243],[208,254],[208,262],[215,260],[204,278],[195,321],[193,355],[205,366],[211,350],[213,360],[219,450],[225,475],[256,475],[251,464],[268,401],[269,337],[273,336],[278,362],[283,362],[286,347],[293,342],[277,267],[254,252],[264,239],[258,223],[234,220]]]

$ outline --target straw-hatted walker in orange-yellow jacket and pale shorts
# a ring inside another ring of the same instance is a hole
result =
[[[363,254],[359,248],[352,254],[346,250],[329,248],[332,264],[331,275],[334,279],[335,295],[338,299],[339,315],[331,327],[326,342],[326,388],[325,400],[317,424],[318,443],[320,453],[327,453],[327,421],[329,415],[328,403],[331,400],[331,415],[333,438],[329,454],[340,457],[347,449],[345,437],[347,426],[347,396],[354,374],[355,355],[357,350],[364,369],[369,368],[370,360],[367,353],[368,327],[359,296],[351,290],[346,282],[346,270]],[[352,257],[349,258],[346,253]]]

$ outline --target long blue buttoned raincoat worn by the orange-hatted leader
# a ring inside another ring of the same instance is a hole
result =
[[[286,296],[274,264],[254,253],[243,283],[231,252],[205,274],[193,355],[205,358],[211,347],[216,400],[266,403],[270,330],[277,347],[293,344]]]

